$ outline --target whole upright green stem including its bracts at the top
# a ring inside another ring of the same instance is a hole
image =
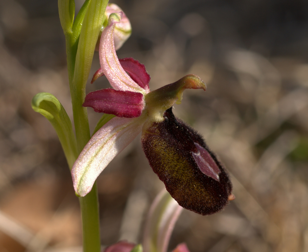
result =
[[[60,22],[66,39],[67,69],[78,153],[90,139],[87,110],[82,104],[107,3],[108,0],[86,0],[73,23],[74,1],[58,0]],[[79,198],[79,202],[83,223],[83,251],[99,252],[99,205],[96,183],[90,193]]]

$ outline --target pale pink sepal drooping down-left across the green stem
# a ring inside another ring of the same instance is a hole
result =
[[[83,148],[71,170],[74,189],[85,196],[109,162],[140,133],[144,118],[112,118]]]

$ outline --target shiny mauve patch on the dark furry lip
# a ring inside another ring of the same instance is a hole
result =
[[[219,182],[219,170],[217,164],[209,154],[207,150],[201,147],[199,144],[195,143],[198,153],[193,153],[193,158],[197,162],[197,165],[201,172]]]

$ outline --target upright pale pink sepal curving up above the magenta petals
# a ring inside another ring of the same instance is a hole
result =
[[[99,44],[100,67],[114,89],[147,94],[148,92],[125,72],[115,52],[114,28],[122,14],[122,12],[112,13],[109,17],[108,26],[102,32]]]

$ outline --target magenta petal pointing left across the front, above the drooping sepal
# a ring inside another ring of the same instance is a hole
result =
[[[144,100],[141,93],[106,88],[87,94],[83,106],[99,113],[135,118],[141,115]]]

